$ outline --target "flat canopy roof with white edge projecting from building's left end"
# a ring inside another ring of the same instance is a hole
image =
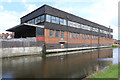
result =
[[[28,23],[23,23],[23,24],[19,24],[17,26],[14,26],[10,29],[7,29],[6,31],[10,31],[10,32],[17,32],[17,31],[22,31],[24,29],[26,29],[26,27],[39,27],[39,28],[44,28],[43,25],[35,25],[35,24],[28,24]]]

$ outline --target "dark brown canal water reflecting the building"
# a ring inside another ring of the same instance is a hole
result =
[[[68,54],[70,53],[70,54]],[[118,63],[118,48],[64,53],[65,55],[23,56],[2,60],[3,78],[85,78]]]

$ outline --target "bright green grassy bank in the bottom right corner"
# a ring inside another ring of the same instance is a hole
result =
[[[118,64],[115,64],[115,65],[111,65],[103,72],[98,72],[94,75],[89,76],[88,78],[118,78],[118,77],[120,78],[120,75],[118,75]]]

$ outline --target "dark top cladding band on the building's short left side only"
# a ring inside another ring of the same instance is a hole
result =
[[[26,21],[28,21],[30,19],[33,19],[33,18],[35,18],[35,17],[37,17],[39,15],[42,15],[42,14],[44,14],[44,12],[45,12],[45,8],[44,8],[44,6],[42,6],[42,7],[38,8],[38,9],[36,9],[35,11],[23,16],[21,18],[21,23],[24,23],[24,22],[26,22]]]

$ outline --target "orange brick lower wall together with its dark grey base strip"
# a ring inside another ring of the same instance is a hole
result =
[[[60,48],[59,41],[61,37],[55,37],[56,30],[54,30],[54,37],[50,37],[50,29],[45,29],[45,43],[47,48]],[[86,34],[78,34],[79,38],[70,38],[70,32],[64,32],[64,40],[67,41],[65,47],[84,47],[84,46],[108,46],[113,44],[112,38],[99,37],[99,40],[92,39],[90,35],[89,39],[86,38]],[[85,35],[85,39],[82,38]]]

